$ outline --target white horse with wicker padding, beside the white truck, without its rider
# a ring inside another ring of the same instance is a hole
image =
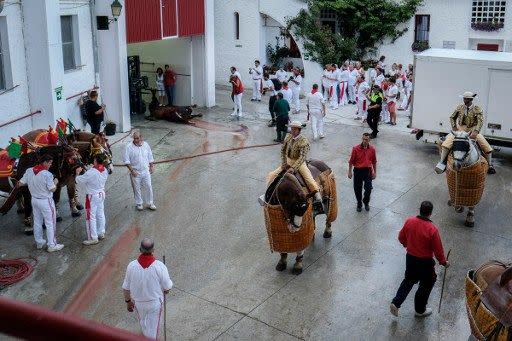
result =
[[[468,208],[464,225],[475,225],[475,206],[480,202],[485,187],[488,164],[480,155],[477,144],[465,131],[453,133],[453,147],[448,156],[446,179],[450,192],[449,206],[462,213]]]

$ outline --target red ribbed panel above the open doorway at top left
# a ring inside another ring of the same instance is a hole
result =
[[[128,44],[204,34],[204,0],[126,0]]]

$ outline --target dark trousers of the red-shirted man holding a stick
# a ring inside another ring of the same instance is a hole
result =
[[[393,304],[400,308],[414,284],[420,282],[414,295],[414,309],[417,313],[425,312],[430,292],[436,283],[435,262],[432,258],[418,258],[407,254],[405,258],[405,278],[400,284]]]

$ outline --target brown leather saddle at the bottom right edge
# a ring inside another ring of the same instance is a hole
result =
[[[512,326],[512,267],[496,277],[482,294],[485,307],[505,327]]]

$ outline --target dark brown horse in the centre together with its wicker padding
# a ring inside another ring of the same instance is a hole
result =
[[[332,170],[322,161],[310,160],[307,166],[318,182],[325,207],[324,238],[331,238],[331,224],[337,218],[336,182]],[[268,186],[264,203],[265,224],[272,251],[280,252],[277,271],[284,271],[288,253],[296,252],[293,274],[302,273],[304,249],[314,240],[315,210],[302,176],[283,171]]]

